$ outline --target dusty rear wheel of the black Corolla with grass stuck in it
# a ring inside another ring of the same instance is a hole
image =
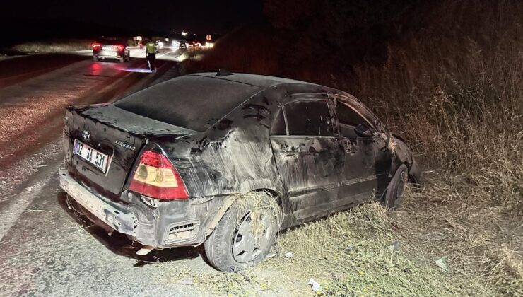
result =
[[[205,253],[216,269],[246,269],[262,262],[271,250],[280,227],[281,209],[269,194],[257,192],[255,196],[235,202],[207,238]]]

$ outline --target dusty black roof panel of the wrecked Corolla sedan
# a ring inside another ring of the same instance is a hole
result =
[[[199,74],[189,74],[191,76],[204,76],[206,78],[217,78],[225,81],[234,81],[236,83],[245,83],[251,86],[257,86],[259,88],[271,88],[281,84],[305,84],[315,86],[314,83],[307,83],[306,81],[296,81],[295,79],[281,78],[276,76],[264,76],[257,74],[230,74],[224,76],[217,76],[216,72],[205,72]]]

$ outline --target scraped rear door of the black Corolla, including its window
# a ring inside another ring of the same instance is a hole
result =
[[[345,156],[327,100],[283,105],[271,127],[271,145],[295,218],[311,219],[332,209]]]

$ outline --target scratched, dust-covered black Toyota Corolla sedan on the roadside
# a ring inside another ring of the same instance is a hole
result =
[[[90,220],[141,243],[139,255],[205,243],[226,271],[263,260],[281,229],[375,199],[394,209],[420,175],[348,93],[226,71],[69,107],[64,150],[60,185]]]

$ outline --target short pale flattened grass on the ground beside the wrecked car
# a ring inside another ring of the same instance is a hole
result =
[[[505,206],[478,208],[435,182],[409,190],[401,211],[371,203],[293,228],[278,237],[276,257],[247,271],[187,267],[169,281],[189,277],[229,296],[314,295],[310,278],[326,296],[521,296],[523,264],[511,244],[522,221]]]

